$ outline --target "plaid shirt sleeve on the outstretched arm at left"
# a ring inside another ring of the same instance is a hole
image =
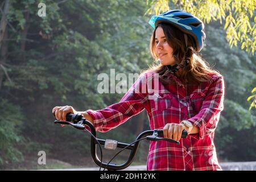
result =
[[[133,115],[141,113],[148,100],[145,80],[146,75],[140,76],[118,103],[101,110],[86,110],[93,118],[97,131],[109,131],[126,122]]]

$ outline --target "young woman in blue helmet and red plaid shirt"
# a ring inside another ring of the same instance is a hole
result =
[[[146,109],[151,130],[163,129],[164,137],[180,140],[179,145],[151,142],[148,170],[221,170],[213,138],[224,107],[224,79],[197,55],[204,46],[204,24],[182,10],[152,16],[149,23],[155,28],[151,55],[160,63],[143,72],[119,103],[86,111],[56,106],[52,112],[63,121],[67,113],[79,112],[105,132]],[[144,80],[157,84],[149,90]],[[181,139],[183,130],[189,135]]]

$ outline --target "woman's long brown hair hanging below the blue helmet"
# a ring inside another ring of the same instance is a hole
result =
[[[173,49],[173,56],[175,61],[177,61],[177,63],[180,64],[181,60],[184,57],[184,54],[185,54],[185,60],[189,61],[188,65],[183,67],[180,72],[179,78],[181,78],[182,81],[187,83],[200,84],[200,82],[211,80],[209,73],[217,74],[217,75],[220,74],[215,69],[210,68],[207,61],[205,61],[197,53],[193,52],[191,49],[188,49],[187,51],[187,48],[185,46],[184,33],[181,32],[179,29],[166,23],[159,23],[157,27],[163,28],[163,32],[164,32],[164,35],[166,36],[167,43]],[[150,40],[150,52],[155,62],[158,61],[159,59],[155,49],[156,28],[152,33],[151,40]],[[193,43],[192,37],[188,34],[187,36],[188,36],[188,42],[187,42],[188,46],[192,46],[193,49],[195,50],[196,48],[195,48],[195,44]],[[142,73],[155,72],[159,74],[159,81],[162,82],[163,84],[174,83],[173,80],[170,80],[167,77],[163,76],[164,73],[166,73],[166,71],[167,71],[166,65],[162,65],[162,64],[156,65],[153,63],[150,66],[150,68],[148,68],[146,71]]]

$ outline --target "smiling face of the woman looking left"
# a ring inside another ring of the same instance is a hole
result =
[[[167,43],[162,27],[156,28],[155,31],[155,51],[162,65],[174,65],[175,60],[172,56],[173,49]]]

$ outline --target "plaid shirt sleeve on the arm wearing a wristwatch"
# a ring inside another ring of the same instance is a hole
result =
[[[220,112],[224,109],[224,95],[224,78],[219,76],[210,84],[199,113],[188,119],[199,128],[199,134],[192,134],[191,137],[203,139],[206,134],[214,132]]]

